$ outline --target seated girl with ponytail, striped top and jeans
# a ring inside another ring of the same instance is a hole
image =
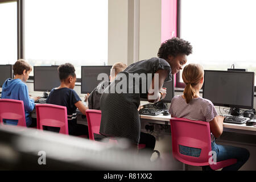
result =
[[[217,162],[226,159],[237,159],[237,163],[222,170],[236,171],[248,160],[250,153],[245,148],[222,146],[216,144],[215,138],[220,137],[223,131],[224,117],[217,114],[211,101],[199,96],[199,90],[204,82],[204,69],[199,64],[189,64],[183,69],[182,78],[186,84],[183,95],[172,98],[170,114],[176,118],[187,118],[195,121],[205,121],[210,124],[212,151],[217,154]],[[181,154],[197,155],[200,149],[180,146]],[[191,151],[191,152],[187,152]],[[210,167],[203,167],[210,170]]]

